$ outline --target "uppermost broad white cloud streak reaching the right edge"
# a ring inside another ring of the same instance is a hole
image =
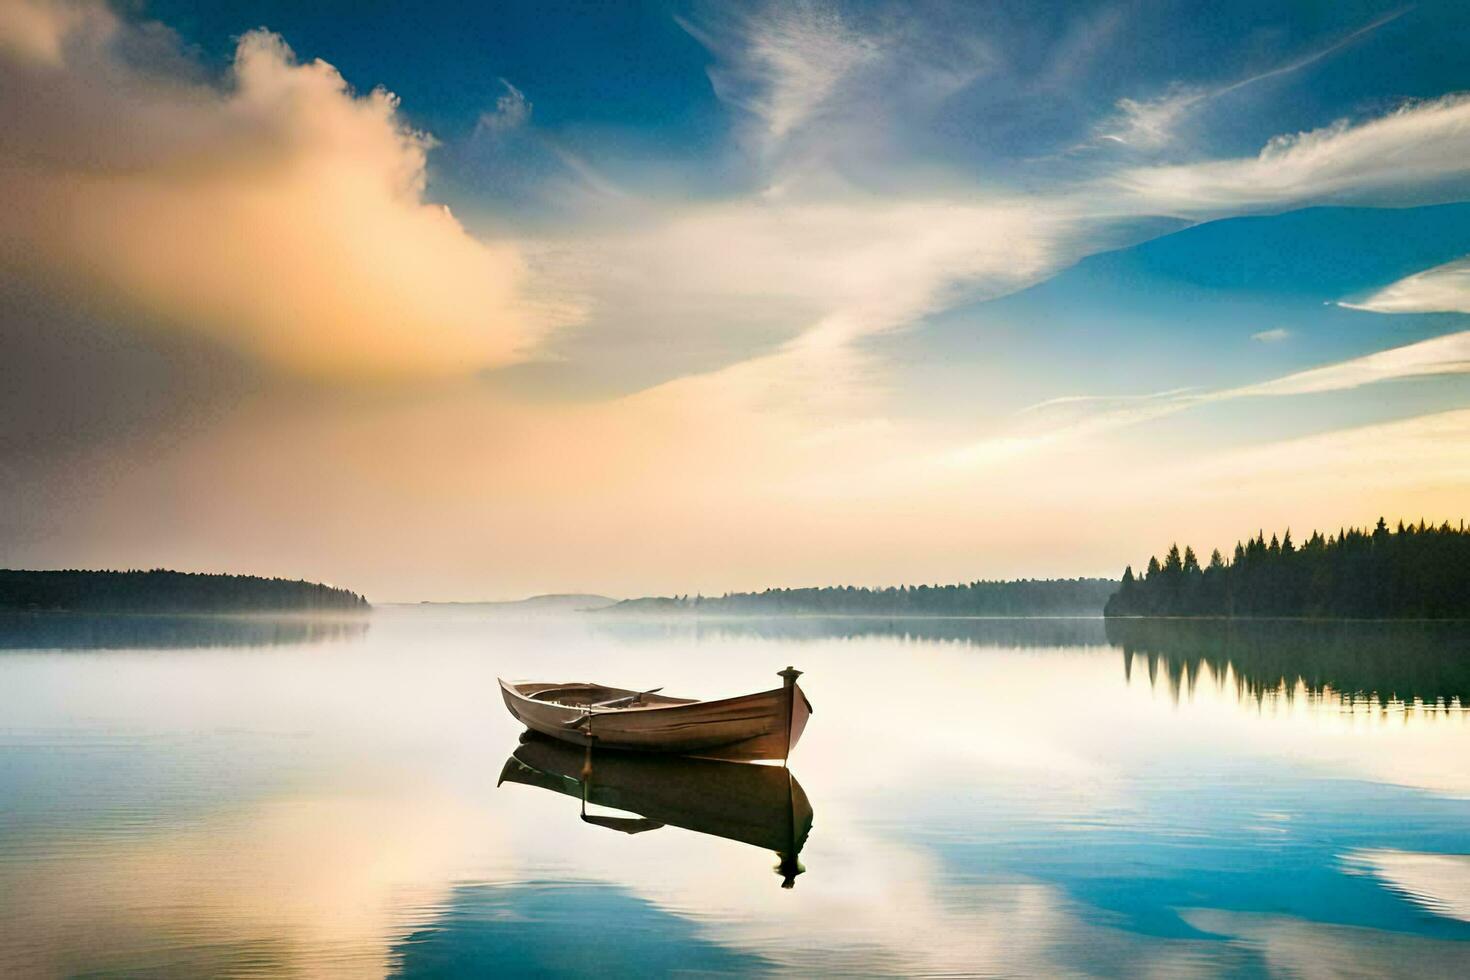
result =
[[[1127,167],[1104,182],[1125,203],[1188,216],[1369,195],[1383,203],[1470,178],[1467,145],[1470,94],[1455,93],[1274,137],[1255,157]]]

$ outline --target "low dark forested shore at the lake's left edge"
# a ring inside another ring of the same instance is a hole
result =
[[[366,610],[368,599],[316,582],[196,572],[0,569],[0,610],[69,613],[290,613]]]

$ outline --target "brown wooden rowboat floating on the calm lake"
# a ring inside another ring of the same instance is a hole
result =
[[[785,760],[811,714],[811,702],[797,686],[800,676],[786,667],[781,688],[723,701],[595,683],[501,680],[500,692],[510,714],[528,729],[572,745],[731,761]]]

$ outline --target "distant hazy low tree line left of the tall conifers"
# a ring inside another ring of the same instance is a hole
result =
[[[1017,579],[883,589],[836,585],[725,595],[625,599],[620,613],[710,616],[1098,616],[1117,589],[1113,579]]]

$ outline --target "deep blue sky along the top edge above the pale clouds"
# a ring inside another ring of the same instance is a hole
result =
[[[503,94],[504,79],[532,97],[537,125],[548,134],[592,140],[604,131],[637,140],[648,153],[703,162],[728,148],[722,144],[739,122],[701,79],[720,63],[704,40],[731,40],[742,21],[763,13],[759,4],[686,3],[137,6],[140,19],[178,31],[216,71],[228,66],[245,31],[279,32],[301,57],[326,59],[356,85],[390,88],[410,120],[445,140],[473,129]],[[907,151],[953,166],[1066,153],[1086,141],[1117,100],[1148,101],[1185,87],[1239,85],[1189,122],[1200,150],[1252,153],[1280,132],[1461,88],[1457,53],[1470,29],[1470,15],[1452,3],[867,3],[807,10],[813,21],[825,15],[897,41],[931,69],[970,81],[944,100],[945,119],[907,120]],[[997,140],[997,129],[1004,138]]]

